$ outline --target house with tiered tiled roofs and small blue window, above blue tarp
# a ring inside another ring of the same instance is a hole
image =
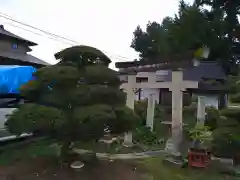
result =
[[[29,52],[35,42],[24,39],[7,31],[0,25],[0,65],[20,65],[40,68],[50,65],[47,62],[32,56]]]

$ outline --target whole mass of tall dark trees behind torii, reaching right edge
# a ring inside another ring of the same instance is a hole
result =
[[[131,47],[140,53],[140,61],[165,62],[191,60],[187,52],[193,54],[207,46],[208,61],[221,63],[227,74],[236,73],[240,55],[239,3],[196,0],[190,5],[182,0],[175,17],[166,17],[160,24],[148,22],[146,31],[138,26]]]

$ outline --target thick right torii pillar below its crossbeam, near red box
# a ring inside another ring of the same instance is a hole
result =
[[[179,152],[179,145],[182,141],[182,108],[183,94],[179,89],[172,89],[172,141],[173,152]]]

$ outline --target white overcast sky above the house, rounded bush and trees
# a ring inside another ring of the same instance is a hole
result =
[[[165,16],[173,16],[177,9],[178,0],[0,0],[1,13],[108,52],[112,68],[114,62],[137,57],[130,48],[137,25],[145,28],[148,21],[161,22]],[[7,30],[38,43],[32,54],[49,63],[56,63],[54,53],[71,46],[9,23],[29,28],[0,18],[0,24]]]

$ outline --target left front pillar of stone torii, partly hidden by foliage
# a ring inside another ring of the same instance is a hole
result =
[[[136,75],[129,75],[128,76],[128,86],[126,87],[127,93],[127,100],[126,105],[134,110],[134,100],[135,100],[135,93],[134,93],[134,85],[136,83]],[[126,132],[124,136],[123,146],[131,147],[133,146],[132,143],[132,132]]]

